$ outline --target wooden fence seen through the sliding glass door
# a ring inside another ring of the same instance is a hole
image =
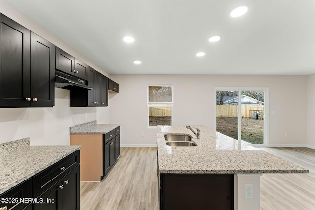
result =
[[[242,105],[241,116],[252,118],[255,111],[263,111],[264,105]],[[217,117],[237,117],[238,105],[217,105]]]

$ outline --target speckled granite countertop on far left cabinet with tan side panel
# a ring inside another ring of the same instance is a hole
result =
[[[92,121],[70,127],[70,135],[105,134],[119,126],[119,124],[96,124],[96,121]]]

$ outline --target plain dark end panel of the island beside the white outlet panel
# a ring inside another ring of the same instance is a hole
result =
[[[233,210],[233,174],[161,174],[161,210]]]

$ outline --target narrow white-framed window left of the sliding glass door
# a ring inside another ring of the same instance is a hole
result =
[[[172,125],[173,87],[148,86],[148,126]]]

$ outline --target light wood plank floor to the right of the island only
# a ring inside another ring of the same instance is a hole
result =
[[[309,169],[309,174],[263,174],[261,210],[315,210],[315,150],[260,148]]]

